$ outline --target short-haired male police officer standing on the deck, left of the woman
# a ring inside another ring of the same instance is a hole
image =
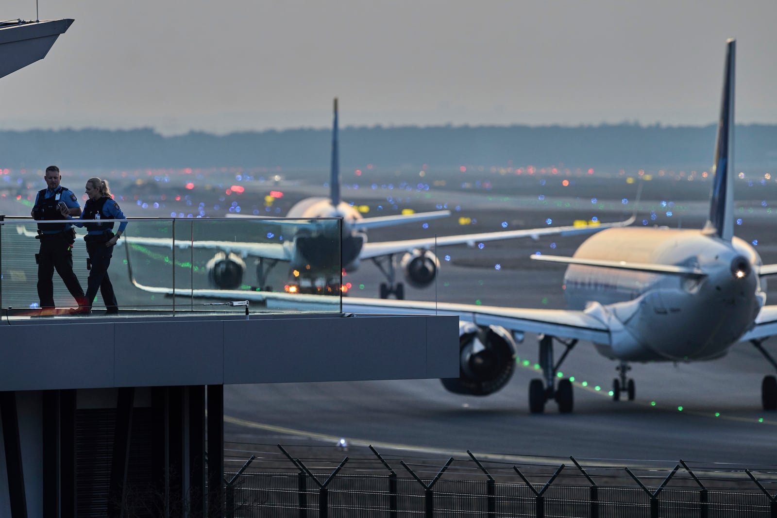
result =
[[[47,188],[40,189],[35,196],[35,205],[30,212],[37,221],[64,220],[64,214],[81,214],[81,207],[75,194],[67,187],[61,186],[61,176],[56,165],[49,165],[44,176]],[[64,207],[60,205],[64,203]],[[60,208],[62,207],[62,208]],[[63,214],[64,213],[64,214]],[[85,304],[84,290],[78,283],[78,277],[73,273],[73,243],[75,230],[65,223],[39,223],[38,235],[40,252],[35,255],[38,264],[38,298],[41,308],[54,308],[54,269],[75,298],[76,304]]]

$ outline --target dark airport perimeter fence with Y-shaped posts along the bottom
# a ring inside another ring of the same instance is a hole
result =
[[[246,445],[247,446],[247,445]],[[253,445],[257,446],[257,445]],[[321,454],[277,445],[225,479],[228,518],[538,516],[777,518],[777,466],[480,455],[402,460],[373,447]],[[329,448],[331,450],[331,448]],[[289,452],[291,450],[292,453]],[[231,450],[232,461],[241,461]],[[253,457],[253,454],[252,454]],[[229,457],[227,457],[228,459]]]

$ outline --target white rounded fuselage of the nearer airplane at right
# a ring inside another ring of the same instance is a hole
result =
[[[576,259],[693,266],[703,276],[572,264],[564,275],[571,309],[611,325],[601,354],[627,361],[709,360],[726,354],[765,302],[761,258],[747,242],[690,229],[613,228],[588,238]]]

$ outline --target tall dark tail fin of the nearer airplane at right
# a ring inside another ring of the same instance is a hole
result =
[[[713,166],[713,189],[709,201],[709,220],[706,229],[719,238],[731,241],[733,237],[733,99],[734,69],[737,42],[726,42],[726,66],[723,68],[723,99],[720,102],[720,121]]]

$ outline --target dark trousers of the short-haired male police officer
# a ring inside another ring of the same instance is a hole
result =
[[[57,269],[76,304],[85,304],[84,290],[73,273],[71,235],[68,231],[40,236],[40,252],[35,259],[38,263],[38,298],[41,308],[54,308],[54,269]]]

